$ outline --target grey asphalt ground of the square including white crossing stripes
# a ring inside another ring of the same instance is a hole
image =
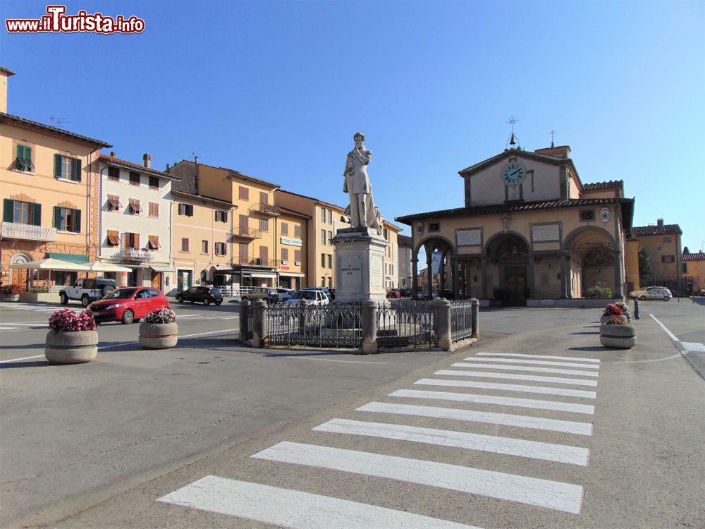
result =
[[[0,364],[0,520],[704,527],[705,307],[640,305],[630,351],[599,346],[599,310],[521,309],[453,355],[370,356],[240,348],[234,304],[177,305],[178,348],[106,324],[61,367],[27,358],[48,314],[0,305],[0,361],[27,358]]]

